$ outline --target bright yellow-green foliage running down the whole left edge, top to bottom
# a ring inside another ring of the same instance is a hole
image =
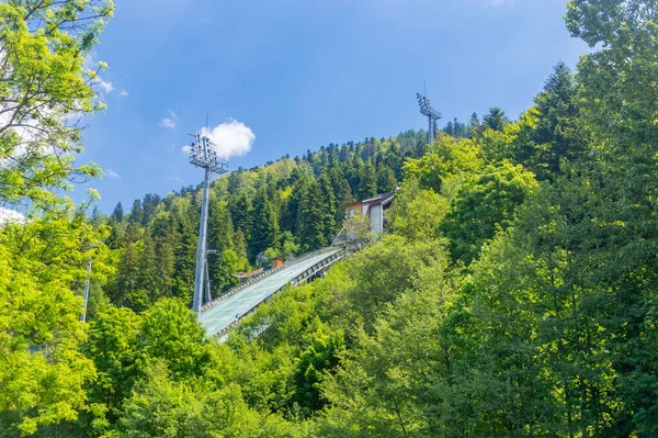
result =
[[[98,71],[83,61],[112,11],[112,1],[0,3],[0,200],[30,205],[32,216],[0,229],[3,435],[34,434],[88,408],[83,385],[94,368],[80,352],[86,327],[73,291],[89,248],[99,246],[94,280],[110,270],[103,229],[56,193],[100,175],[94,165],[76,166],[81,128],[70,115],[103,108],[92,89]]]

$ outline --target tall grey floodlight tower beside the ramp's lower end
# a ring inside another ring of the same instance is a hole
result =
[[[208,221],[208,189],[212,173],[226,173],[228,162],[217,155],[217,146],[205,135],[193,135],[194,142],[190,145],[190,164],[204,169],[203,198],[201,202],[201,223],[198,224],[198,247],[196,249],[196,271],[194,272],[194,297],[192,310],[201,317],[203,300],[203,274],[206,270],[206,229]],[[209,292],[209,290],[208,290]]]

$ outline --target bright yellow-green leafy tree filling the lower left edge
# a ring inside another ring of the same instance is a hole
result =
[[[71,213],[73,214],[73,213]],[[83,385],[93,363],[80,352],[86,337],[82,284],[90,252],[80,243],[98,235],[73,216],[5,224],[0,228],[0,424],[32,434],[75,420],[87,407]],[[95,280],[103,281],[98,260]]]

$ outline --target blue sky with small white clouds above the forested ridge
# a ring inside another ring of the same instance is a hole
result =
[[[105,212],[200,183],[181,148],[206,112],[211,128],[225,123],[216,138],[251,144],[230,158],[249,168],[424,127],[423,80],[441,126],[494,105],[517,117],[553,65],[574,67],[587,50],[565,27],[565,0],[116,3],[95,49],[110,65],[107,110],[83,135],[83,161],[106,172],[83,188],[101,192]]]

